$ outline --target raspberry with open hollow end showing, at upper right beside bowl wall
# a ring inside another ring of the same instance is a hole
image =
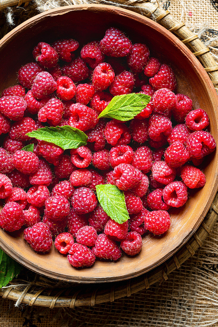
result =
[[[191,130],[205,129],[209,125],[209,117],[203,109],[189,112],[185,118],[186,125]]]

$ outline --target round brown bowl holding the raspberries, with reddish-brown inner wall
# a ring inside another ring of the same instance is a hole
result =
[[[33,47],[40,41],[52,43],[60,38],[75,38],[82,45],[100,40],[105,30],[117,26],[130,39],[144,42],[151,55],[170,64],[177,79],[179,93],[193,99],[193,108],[202,108],[210,117],[210,131],[218,143],[215,89],[202,65],[173,34],[142,15],[105,5],[67,6],[37,15],[8,33],[0,42],[0,90],[16,83],[21,65],[33,60]],[[217,190],[217,151],[205,159],[207,182],[191,191],[187,203],[172,210],[171,227],[162,236],[143,237],[138,256],[124,255],[118,262],[96,261],[91,268],[73,268],[53,246],[47,254],[34,252],[23,238],[23,230],[8,233],[0,230],[0,246],[9,256],[42,275],[60,280],[100,283],[138,276],[164,262],[196,231],[210,208]]]

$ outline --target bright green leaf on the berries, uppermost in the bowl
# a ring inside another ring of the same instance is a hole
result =
[[[151,97],[142,93],[116,95],[98,118],[107,117],[122,121],[133,119],[150,102]]]

